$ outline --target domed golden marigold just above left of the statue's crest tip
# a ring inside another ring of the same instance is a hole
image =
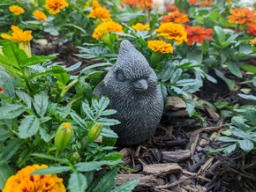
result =
[[[118,33],[124,33],[123,26],[116,23],[115,21],[106,21],[97,26],[94,29],[93,38],[96,40],[103,40],[103,34],[104,33],[111,33],[111,32],[118,32]],[[117,35],[118,38],[118,35]]]

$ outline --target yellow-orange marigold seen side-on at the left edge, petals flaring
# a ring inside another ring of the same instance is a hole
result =
[[[16,42],[29,42],[32,40],[33,36],[31,35],[32,31],[24,31],[18,26],[11,26],[13,33],[11,35],[2,33],[1,37],[6,40],[16,41]]]

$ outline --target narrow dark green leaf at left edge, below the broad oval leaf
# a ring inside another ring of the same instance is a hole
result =
[[[0,155],[0,160],[7,161],[19,150],[19,147],[24,144],[20,139],[12,139],[7,146],[4,147]]]

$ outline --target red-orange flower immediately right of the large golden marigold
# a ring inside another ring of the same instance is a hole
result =
[[[213,37],[210,33],[213,33],[213,29],[201,28],[201,26],[185,26],[187,32],[187,45],[192,45],[193,42],[199,42],[202,44],[205,39],[212,40]]]

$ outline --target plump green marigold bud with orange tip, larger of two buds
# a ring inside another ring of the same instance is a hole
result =
[[[55,146],[56,146],[56,157],[59,157],[62,151],[71,143],[74,131],[71,123],[62,123],[56,131]]]

